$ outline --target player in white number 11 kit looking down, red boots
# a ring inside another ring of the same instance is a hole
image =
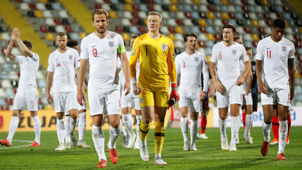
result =
[[[275,19],[272,35],[260,40],[256,51],[256,74],[264,116],[261,154],[265,156],[268,153],[273,105],[277,105],[280,124],[277,160],[286,160],[284,147],[288,132],[287,113],[295,93],[293,64],[295,47],[291,41],[283,37],[284,30],[285,21],[281,18]]]

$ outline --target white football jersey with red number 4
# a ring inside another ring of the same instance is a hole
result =
[[[60,53],[58,49],[53,51],[48,58],[47,71],[54,72],[53,92],[76,91],[75,66],[80,67],[80,57],[78,51],[67,47],[65,53]]]

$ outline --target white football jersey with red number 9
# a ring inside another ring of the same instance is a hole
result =
[[[117,49],[124,46],[120,34],[108,31],[105,38],[89,34],[81,42],[81,58],[89,58],[88,87],[117,88],[119,86],[117,69]]]

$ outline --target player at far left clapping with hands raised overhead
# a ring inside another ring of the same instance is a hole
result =
[[[13,114],[11,116],[11,122],[9,124],[9,131],[7,138],[0,140],[1,145],[11,146],[14,133],[17,130],[19,123],[19,116],[24,106],[31,113],[31,117],[34,121],[34,131],[36,137],[31,146],[40,146],[40,134],[41,134],[41,122],[38,110],[38,91],[37,91],[37,72],[39,69],[39,56],[31,51],[32,44],[30,41],[22,41],[20,38],[21,32],[18,28],[14,28],[11,33],[11,41],[6,49],[5,56],[14,62],[20,64],[20,79],[19,86],[17,89],[16,96],[14,98]],[[11,54],[11,48],[14,42],[17,41],[19,47],[21,48],[22,55]]]

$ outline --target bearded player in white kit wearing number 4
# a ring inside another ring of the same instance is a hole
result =
[[[79,110],[76,101],[76,83],[75,83],[75,67],[79,69],[80,58],[79,53],[73,48],[67,47],[67,35],[59,32],[56,35],[56,43],[58,48],[53,51],[48,58],[47,68],[47,102],[54,104],[56,112],[56,128],[59,139],[59,147],[55,151],[65,150],[64,145],[64,113],[70,115],[69,136],[73,146],[77,145],[77,139],[74,133],[78,122]],[[53,99],[50,95],[52,88]],[[66,139],[66,142],[68,139]]]

